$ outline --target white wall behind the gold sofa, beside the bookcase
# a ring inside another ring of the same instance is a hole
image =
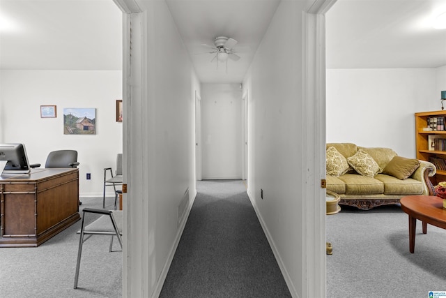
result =
[[[435,68],[328,69],[327,142],[389,147],[415,158],[415,112],[441,109],[436,73]]]

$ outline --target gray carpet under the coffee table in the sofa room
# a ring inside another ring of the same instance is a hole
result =
[[[326,218],[327,297],[429,297],[446,291],[446,231],[417,221],[415,253],[409,252],[408,216],[401,207],[369,211],[342,207]]]

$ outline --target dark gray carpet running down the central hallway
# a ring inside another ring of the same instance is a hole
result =
[[[160,297],[291,297],[243,181],[197,191]]]

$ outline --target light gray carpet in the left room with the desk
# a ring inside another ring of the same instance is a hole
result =
[[[114,204],[114,198],[107,203]],[[84,207],[101,208],[102,197],[82,198]],[[0,248],[0,297],[122,297],[122,253],[109,253],[108,236],[85,241],[79,288],[73,289],[80,225],[77,221],[38,247]]]

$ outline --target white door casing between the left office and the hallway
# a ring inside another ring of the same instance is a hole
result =
[[[123,156],[124,182],[128,185],[128,193],[124,195],[123,214],[123,297],[148,297],[151,293],[151,274],[148,264],[151,255],[149,251],[149,234],[154,226],[151,213],[151,202],[148,193],[151,186],[144,181],[148,169],[147,136],[142,127],[148,127],[147,111],[148,80],[147,80],[147,49],[144,42],[146,34],[146,13],[132,13],[126,15],[128,30],[126,36],[126,51],[124,57],[124,88],[123,105],[125,117],[123,119]],[[131,34],[130,36],[130,28]],[[130,53],[131,43],[131,53]],[[126,174],[125,174],[126,173]],[[146,198],[132,200],[127,204],[126,198]],[[144,236],[145,235],[145,236]]]

